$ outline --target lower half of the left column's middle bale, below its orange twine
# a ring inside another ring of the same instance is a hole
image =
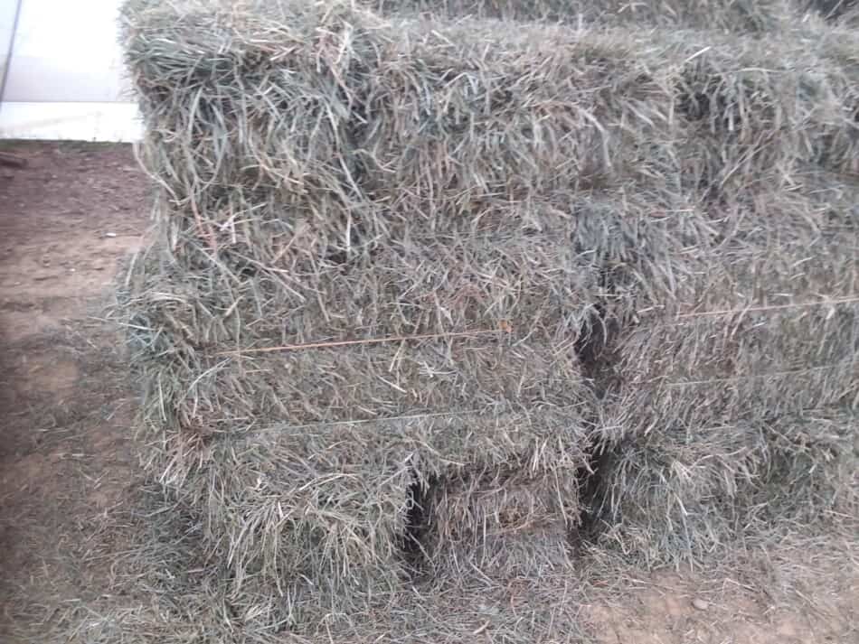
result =
[[[448,338],[147,363],[156,434],[241,434],[399,415],[556,406],[587,417],[592,393],[568,341]],[[498,337],[501,336],[501,337]]]

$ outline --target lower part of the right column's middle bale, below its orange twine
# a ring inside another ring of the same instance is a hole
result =
[[[706,425],[710,419],[855,407],[855,307],[853,302],[814,313],[734,313],[731,322],[638,331],[620,349],[628,379],[617,387],[623,410],[618,425],[635,434],[664,425]],[[673,366],[666,352],[675,356]],[[645,362],[652,356],[656,363]]]

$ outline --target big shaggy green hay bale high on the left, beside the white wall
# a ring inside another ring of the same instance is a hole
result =
[[[174,237],[232,247],[236,211],[284,239],[304,223],[332,252],[378,246],[403,227],[470,229],[526,215],[517,206],[548,190],[606,181],[619,172],[616,150],[666,138],[671,96],[619,34],[499,39],[474,23],[441,37],[439,25],[380,26],[335,6],[274,23],[293,11],[275,3],[241,28],[225,24],[232,8],[133,14],[127,51],[154,137],[147,163],[183,210]],[[323,31],[335,41],[320,42]],[[329,47],[349,53],[321,70]],[[212,53],[203,67],[197,51]],[[241,129],[224,125],[239,114]],[[268,264],[277,250],[251,259]]]

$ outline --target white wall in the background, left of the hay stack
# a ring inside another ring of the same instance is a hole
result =
[[[0,138],[137,140],[118,44],[121,0],[20,1]],[[15,2],[0,0],[0,21],[11,22]]]

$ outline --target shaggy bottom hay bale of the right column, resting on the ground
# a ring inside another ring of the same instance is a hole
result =
[[[681,429],[609,448],[599,471],[599,543],[676,564],[756,531],[853,517],[859,417],[849,409]]]

